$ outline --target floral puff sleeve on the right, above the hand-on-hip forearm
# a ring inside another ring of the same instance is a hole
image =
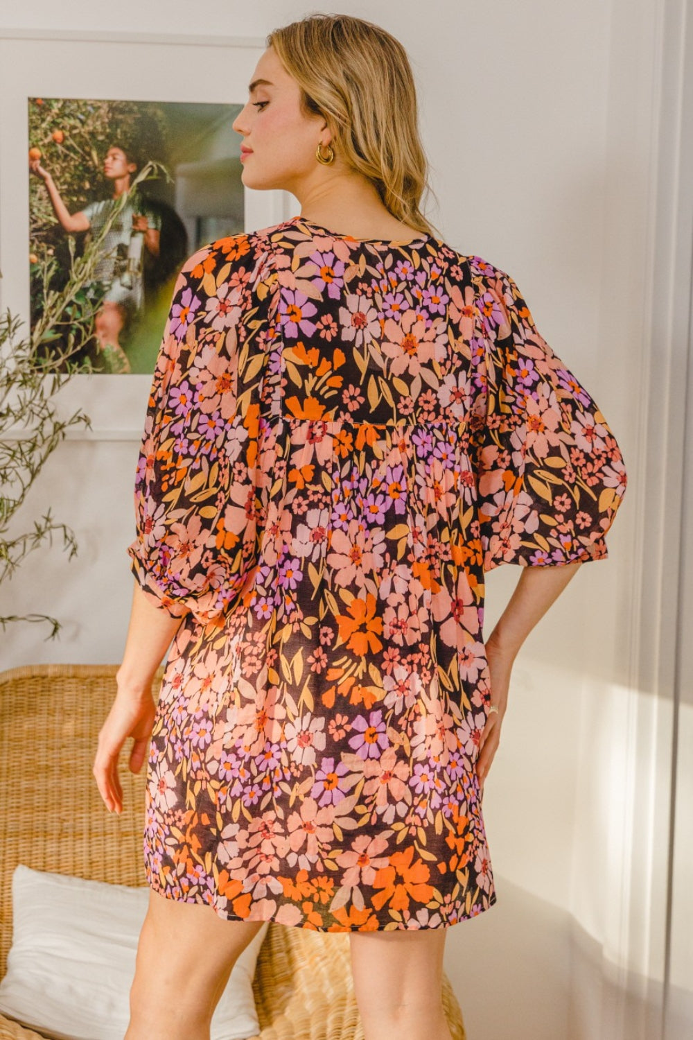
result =
[[[607,556],[625,491],[604,415],[538,333],[509,275],[474,258],[473,463],[483,568]]]

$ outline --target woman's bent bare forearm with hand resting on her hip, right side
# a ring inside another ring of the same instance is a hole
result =
[[[581,562],[560,567],[524,567],[508,605],[486,640],[490,700],[498,712],[492,711],[488,716],[481,736],[477,759],[477,776],[481,787],[501,739],[501,725],[508,705],[510,672],[517,652],[537,621],[544,616],[580,567]]]

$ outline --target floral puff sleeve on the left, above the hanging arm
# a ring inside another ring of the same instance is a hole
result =
[[[241,597],[256,554],[258,402],[238,407],[254,264],[240,237],[194,254],[179,276],[149,399],[136,539],[128,548],[152,602],[203,623]]]

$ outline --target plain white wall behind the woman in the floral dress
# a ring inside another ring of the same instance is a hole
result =
[[[172,32],[201,42],[264,36],[312,9],[276,0],[208,0],[204,14],[178,0],[116,7],[33,0],[0,17],[5,29]],[[568,1029],[576,1040],[615,1040],[617,1032],[596,1032],[598,994],[570,994],[568,965],[570,921],[598,956],[628,950],[628,936],[625,946],[619,937],[632,805],[629,789],[619,791],[633,765],[627,723],[637,696],[658,0],[429,0],[424,18],[414,0],[343,0],[339,9],[379,22],[406,46],[439,204],[432,219],[451,243],[516,279],[542,334],[595,396],[629,468],[611,558],[581,570],[517,660],[484,800],[500,901],[452,930],[446,960],[470,1040],[500,1040],[510,1024],[516,1040],[556,1040]],[[210,75],[223,76],[214,54]],[[141,388],[136,394],[132,407],[139,408]],[[27,512],[50,504],[75,528],[79,555],[68,563],[57,548],[36,554],[4,599],[12,612],[55,614],[64,627],[59,643],[26,628],[0,636],[3,667],[118,659],[131,595],[125,548],[136,452],[133,440],[82,440],[64,444],[47,466]],[[487,633],[517,574],[489,575]],[[504,993],[512,993],[514,1009],[505,1020]]]

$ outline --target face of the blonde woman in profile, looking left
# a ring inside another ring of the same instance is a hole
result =
[[[298,83],[271,47],[258,61],[234,130],[243,136],[241,179],[248,188],[283,188],[298,198],[301,184],[324,168],[315,152],[328,144],[329,130],[322,116],[301,111]]]

